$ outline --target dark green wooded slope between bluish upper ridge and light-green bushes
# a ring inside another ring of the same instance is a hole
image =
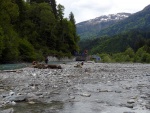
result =
[[[119,53],[128,47],[137,51],[140,47],[147,45],[150,53],[150,28],[147,31],[131,30],[111,37],[87,39],[80,42],[81,51],[87,49],[89,53]]]

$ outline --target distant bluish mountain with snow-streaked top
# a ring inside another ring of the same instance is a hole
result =
[[[115,24],[116,22],[124,20],[130,15],[131,15],[130,13],[110,14],[78,23],[76,25],[77,33],[79,34],[81,40],[90,37],[95,37],[98,34],[98,32],[101,31],[102,29],[107,28],[110,25]]]

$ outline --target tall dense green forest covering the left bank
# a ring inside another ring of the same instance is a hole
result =
[[[0,62],[71,56],[78,51],[74,15],[55,0],[0,0]]]

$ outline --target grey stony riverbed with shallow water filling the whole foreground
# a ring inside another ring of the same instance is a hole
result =
[[[150,113],[150,64],[0,72],[0,113]]]

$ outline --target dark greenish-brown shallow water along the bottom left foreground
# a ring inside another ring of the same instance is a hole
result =
[[[51,103],[33,103],[19,102],[14,106],[6,106],[6,108],[13,108],[14,113],[57,113],[63,109],[63,103],[59,101],[53,101]]]

